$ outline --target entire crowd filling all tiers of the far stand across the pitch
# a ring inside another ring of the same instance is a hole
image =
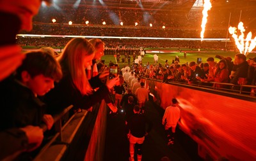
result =
[[[231,13],[231,17],[230,17]],[[228,33],[228,24],[237,26],[239,20],[256,32],[253,26],[253,8],[248,10],[222,10],[212,8],[209,11],[208,22],[204,38],[233,38]],[[52,18],[56,19],[52,23]],[[230,20],[229,20],[230,18]],[[69,21],[72,25],[68,25]],[[86,24],[86,21],[89,24]],[[201,10],[141,10],[140,8],[118,8],[115,6],[90,6],[60,4],[40,8],[38,15],[33,18],[33,30],[23,31],[21,34],[45,34],[68,36],[120,36],[120,37],[150,37],[150,38],[200,38]],[[102,25],[105,21],[106,25]],[[120,25],[124,22],[124,26]],[[137,26],[134,23],[138,22]],[[149,27],[149,24],[152,27]],[[163,29],[163,25],[165,29]],[[65,46],[70,38],[19,38],[20,45],[31,46]],[[177,48],[213,48],[234,49],[225,42],[200,41],[161,41],[150,39],[104,39],[106,46],[132,46],[145,48],[175,46]]]

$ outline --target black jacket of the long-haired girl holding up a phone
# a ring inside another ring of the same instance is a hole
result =
[[[44,102],[47,103],[47,113],[52,115],[60,113],[70,105],[74,105],[75,109],[88,109],[109,94],[108,87],[100,81],[99,75],[93,77],[89,83],[93,88],[100,88],[90,95],[82,95],[70,76],[64,76],[59,83],[55,83],[55,87],[44,97]]]

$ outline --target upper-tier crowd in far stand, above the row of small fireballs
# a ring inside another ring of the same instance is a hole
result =
[[[249,23],[254,11],[253,8],[244,10],[241,20]],[[237,10],[234,10],[234,8],[228,10],[212,8],[209,11],[207,26],[227,29],[230,13],[232,13],[231,24],[236,22],[237,25],[240,15],[238,8]],[[124,22],[124,25],[134,25],[135,22],[138,22],[139,26],[148,26],[151,23],[158,27],[165,25],[166,27],[200,28],[202,10],[141,10],[141,8],[108,8],[86,5],[80,5],[76,8],[64,4],[50,8],[40,8],[34,22],[51,23],[52,18],[55,18],[56,22],[60,24],[67,24],[70,20],[74,24],[85,24],[88,20],[92,25],[101,25],[105,21],[107,25],[120,25],[120,22]]]

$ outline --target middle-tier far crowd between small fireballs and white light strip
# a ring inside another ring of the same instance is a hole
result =
[[[200,38],[200,29],[157,27],[93,27],[87,25],[34,24],[33,31],[23,34],[120,36],[151,38]],[[205,38],[226,38],[227,28],[207,29]]]

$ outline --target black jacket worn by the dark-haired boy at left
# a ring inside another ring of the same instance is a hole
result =
[[[45,104],[28,87],[8,78],[0,83],[0,93],[1,130],[42,123]]]

